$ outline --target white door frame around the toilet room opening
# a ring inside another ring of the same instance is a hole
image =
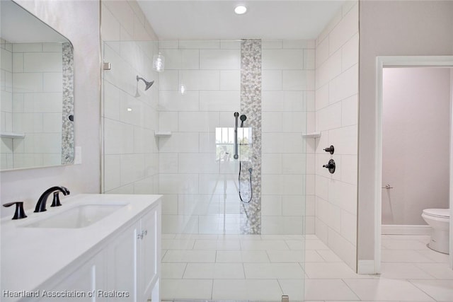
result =
[[[382,103],[383,69],[385,67],[445,67],[453,68],[453,56],[378,56],[376,57],[376,103],[375,103],[375,163],[374,170],[374,272],[381,272],[382,235]],[[451,73],[451,75],[453,72]],[[453,82],[453,79],[450,81]],[[453,83],[451,83],[451,87]],[[450,234],[453,234],[453,88],[450,89]],[[453,269],[453,236],[450,236],[450,261]]]

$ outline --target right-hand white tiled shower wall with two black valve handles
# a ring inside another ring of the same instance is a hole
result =
[[[316,40],[316,236],[352,269],[357,236],[358,2],[345,2]],[[335,147],[331,155],[323,151]],[[334,174],[323,168],[336,162]]]

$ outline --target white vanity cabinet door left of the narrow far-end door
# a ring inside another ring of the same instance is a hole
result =
[[[130,226],[108,245],[107,301],[132,302],[137,299],[137,225]],[[120,295],[120,296],[119,296]]]

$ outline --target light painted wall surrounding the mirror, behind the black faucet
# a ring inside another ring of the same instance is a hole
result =
[[[100,192],[99,171],[99,3],[97,1],[16,1],[62,33],[74,45],[75,145],[83,163],[52,168],[1,172],[1,203],[25,201],[35,207],[40,194],[53,185],[71,194]],[[64,197],[62,197],[64,203]],[[0,207],[1,216],[14,209]]]

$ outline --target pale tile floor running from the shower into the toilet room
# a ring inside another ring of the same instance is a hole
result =
[[[429,236],[382,236],[382,274],[358,275],[319,238],[164,235],[161,298],[453,302],[448,255]],[[304,251],[305,248],[305,251]]]

